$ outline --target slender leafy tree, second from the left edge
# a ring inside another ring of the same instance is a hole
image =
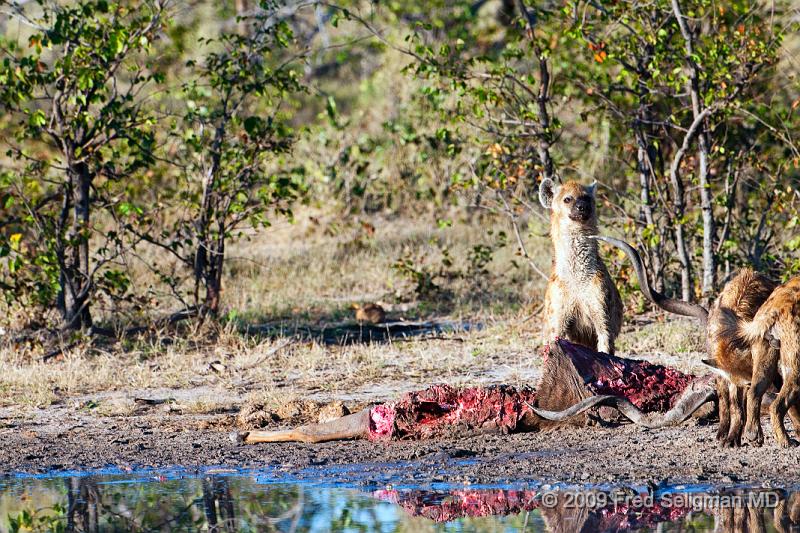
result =
[[[226,246],[249,228],[269,225],[268,215],[291,215],[303,193],[302,171],[286,171],[291,149],[293,95],[304,87],[287,51],[293,34],[272,17],[277,4],[242,19],[248,31],[201,40],[202,61],[187,65],[172,132],[176,184],[166,201],[160,234],[140,237],[176,257],[193,279],[188,305],[216,317],[221,302]],[[179,294],[175,280],[175,294]],[[185,302],[186,303],[186,302]]]

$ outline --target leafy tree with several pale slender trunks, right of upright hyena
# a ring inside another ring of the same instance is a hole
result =
[[[753,109],[766,90],[783,29],[775,26],[758,39],[747,35],[748,30],[759,33],[771,17],[766,7],[746,3],[715,7],[705,0],[669,0],[631,7],[578,1],[571,12],[585,15],[573,19],[571,34],[596,54],[580,82],[587,101],[605,109],[621,133],[634,132],[638,232],[649,244],[651,266],[659,272],[666,264],[663,238],[671,227],[681,296],[690,300],[695,293],[692,240],[699,234],[699,292],[708,301],[717,284],[717,230],[723,228],[727,238],[730,229],[734,180],[720,178],[734,169],[728,164],[731,155],[749,142],[749,135],[736,134],[743,129],[732,119]],[[726,150],[731,141],[740,146]],[[687,174],[692,176],[688,183]],[[695,198],[687,192],[692,189],[698,191]],[[715,202],[715,197],[725,200]]]

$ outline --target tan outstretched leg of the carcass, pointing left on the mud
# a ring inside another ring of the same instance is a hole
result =
[[[309,424],[280,431],[244,431],[230,434],[237,444],[257,442],[327,442],[331,440],[360,439],[369,433],[369,409],[343,416],[322,424]]]

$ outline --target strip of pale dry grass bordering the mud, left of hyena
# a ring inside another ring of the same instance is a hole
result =
[[[30,363],[10,350],[0,352],[0,406],[46,406],[101,392],[127,396],[133,391],[211,388],[268,399],[280,405],[303,397],[368,401],[431,381],[529,382],[538,366],[535,340],[507,326],[453,333],[452,340],[411,340],[391,344],[326,346],[282,339],[244,342],[229,333],[216,346],[174,345],[155,351],[97,353],[75,350],[50,363]],[[211,363],[214,363],[212,365]],[[213,368],[217,369],[212,369]],[[161,392],[169,396],[169,392]],[[91,400],[98,414],[116,416],[135,406],[117,397]],[[75,404],[86,407],[86,402]],[[229,407],[204,394],[178,402],[182,412],[213,412]]]

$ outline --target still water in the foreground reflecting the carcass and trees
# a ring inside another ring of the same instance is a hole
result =
[[[0,531],[797,531],[800,492],[714,487],[357,490],[263,473],[0,480]]]

